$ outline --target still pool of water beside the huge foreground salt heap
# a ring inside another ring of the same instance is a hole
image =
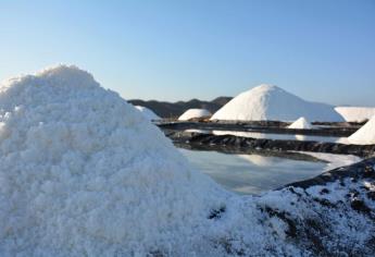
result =
[[[325,162],[291,160],[260,155],[225,155],[179,149],[190,163],[229,191],[260,194],[318,175]]]

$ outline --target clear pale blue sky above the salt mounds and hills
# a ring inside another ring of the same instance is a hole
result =
[[[0,78],[76,64],[124,98],[261,83],[375,106],[375,0],[0,0]]]

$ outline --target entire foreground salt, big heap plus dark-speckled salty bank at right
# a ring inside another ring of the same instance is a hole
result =
[[[0,87],[1,256],[371,256],[375,160],[261,197],[191,169],[75,66]]]

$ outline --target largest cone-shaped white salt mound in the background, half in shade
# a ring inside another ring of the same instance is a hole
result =
[[[277,86],[260,85],[239,94],[213,114],[211,120],[343,121],[332,106],[305,101]]]

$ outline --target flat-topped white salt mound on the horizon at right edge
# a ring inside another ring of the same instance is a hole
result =
[[[375,115],[372,107],[336,107],[335,110],[348,122],[363,122]]]

